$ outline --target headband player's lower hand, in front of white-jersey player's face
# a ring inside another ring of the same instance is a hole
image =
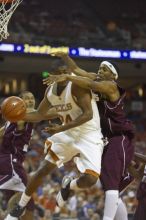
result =
[[[59,82],[64,82],[67,81],[67,74],[62,74],[62,75],[50,75],[48,78],[43,79],[43,84],[50,86],[54,82],[59,83]]]

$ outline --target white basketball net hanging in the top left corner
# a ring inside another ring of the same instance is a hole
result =
[[[23,0],[0,0],[0,41],[7,39],[8,23],[12,14]]]

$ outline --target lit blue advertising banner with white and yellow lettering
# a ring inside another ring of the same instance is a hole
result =
[[[50,45],[40,46],[30,44],[0,43],[1,53],[49,55],[50,53],[58,51],[68,53],[72,57],[146,60],[146,50],[113,50],[84,47],[71,48],[65,46],[53,47]]]

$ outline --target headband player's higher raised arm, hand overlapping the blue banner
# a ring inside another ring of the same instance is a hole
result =
[[[73,73],[75,73],[78,76],[83,76],[83,77],[88,77],[90,79],[95,80],[97,78],[96,73],[89,73],[83,69],[81,69],[73,59],[71,59],[68,54],[64,53],[64,52],[56,52],[56,53],[51,53],[50,55],[52,56],[58,56],[60,57],[65,64],[69,67],[69,69],[71,69],[71,71]]]

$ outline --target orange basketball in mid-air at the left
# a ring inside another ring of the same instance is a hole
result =
[[[10,96],[3,101],[1,112],[7,121],[17,122],[23,120],[26,113],[25,102],[17,96]]]

